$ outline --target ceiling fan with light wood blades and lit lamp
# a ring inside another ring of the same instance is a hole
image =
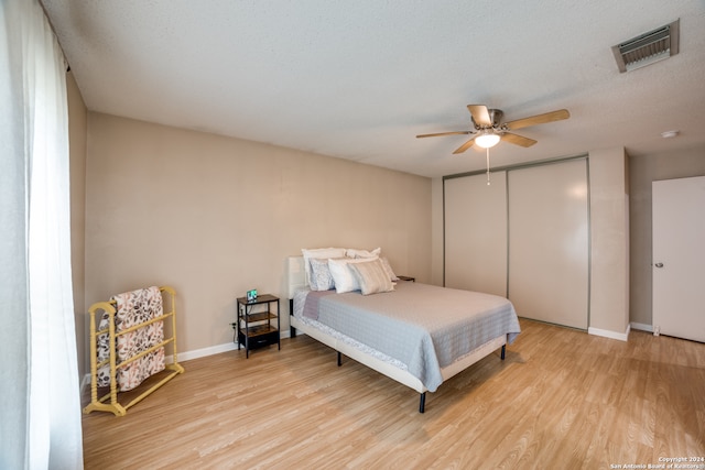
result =
[[[473,146],[474,143],[484,149],[489,149],[497,145],[500,140],[513,143],[514,145],[528,147],[536,143],[536,141],[509,131],[528,128],[530,125],[544,124],[546,122],[561,121],[571,117],[567,109],[560,109],[557,111],[545,112],[543,114],[536,114],[530,118],[502,123],[501,119],[505,113],[499,109],[488,109],[485,105],[468,105],[467,109],[470,111],[473,130],[421,134],[416,135],[416,138],[422,139],[458,134],[473,135],[467,142],[453,152],[455,154],[465,152]]]

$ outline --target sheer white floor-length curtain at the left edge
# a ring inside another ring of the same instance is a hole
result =
[[[0,11],[0,468],[82,469],[66,66],[37,0]]]

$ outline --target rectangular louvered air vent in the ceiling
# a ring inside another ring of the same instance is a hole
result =
[[[612,46],[619,72],[630,72],[679,53],[681,20]]]

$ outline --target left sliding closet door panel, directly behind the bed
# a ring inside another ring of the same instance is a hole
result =
[[[444,181],[445,286],[507,296],[507,174]]]

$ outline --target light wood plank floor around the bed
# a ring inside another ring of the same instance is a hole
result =
[[[521,320],[419,395],[300,336],[183,362],[128,411],[83,418],[86,469],[609,469],[705,457],[705,345]]]

